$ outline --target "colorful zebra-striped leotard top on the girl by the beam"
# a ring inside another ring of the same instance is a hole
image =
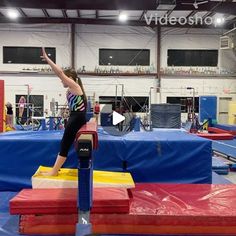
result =
[[[70,111],[85,111],[85,101],[83,95],[74,95],[68,90],[66,98]]]

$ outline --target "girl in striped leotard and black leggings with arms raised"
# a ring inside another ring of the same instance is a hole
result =
[[[70,110],[69,119],[61,140],[60,152],[51,171],[43,172],[42,175],[57,175],[62,165],[65,163],[69,149],[74,142],[76,133],[86,123],[87,98],[81,79],[72,69],[62,70],[56,65],[42,48],[42,60],[46,61],[54,73],[61,80],[64,88],[67,88],[66,98]]]

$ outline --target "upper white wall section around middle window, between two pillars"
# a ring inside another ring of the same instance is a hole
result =
[[[78,25],[78,68],[86,66],[87,71],[94,71],[99,66],[99,48],[150,49],[150,63],[156,66],[156,33],[145,27]],[[132,66],[120,68],[130,72],[134,70]]]

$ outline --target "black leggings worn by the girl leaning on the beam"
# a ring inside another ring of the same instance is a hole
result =
[[[86,123],[85,112],[71,112],[61,140],[59,155],[67,157],[71,145],[75,140],[78,130]]]

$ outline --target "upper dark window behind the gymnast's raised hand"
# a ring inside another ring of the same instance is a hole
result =
[[[56,48],[45,48],[49,57],[56,62]],[[41,47],[3,47],[4,64],[46,64],[42,61]]]

